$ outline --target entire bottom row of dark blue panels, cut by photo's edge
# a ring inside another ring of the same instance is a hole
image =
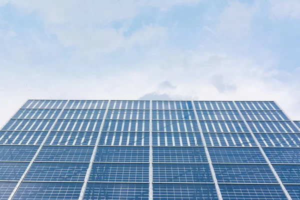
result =
[[[0,197],[7,199],[16,182],[0,182]],[[82,183],[23,182],[14,199],[78,199]],[[222,198],[286,199],[280,185],[219,184]],[[285,185],[292,199],[300,199],[300,185]],[[2,192],[3,191],[3,192]],[[83,199],[148,199],[146,183],[88,183]],[[153,199],[210,199],[217,198],[213,184],[154,183]]]

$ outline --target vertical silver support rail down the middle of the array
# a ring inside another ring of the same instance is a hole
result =
[[[152,157],[152,100],[149,114],[149,200],[153,199],[153,157]]]

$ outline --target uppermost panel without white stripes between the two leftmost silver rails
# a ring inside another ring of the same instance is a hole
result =
[[[43,146],[35,161],[89,162],[93,146]]]

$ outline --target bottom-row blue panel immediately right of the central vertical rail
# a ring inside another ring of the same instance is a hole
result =
[[[216,200],[218,198],[213,184],[154,183],[153,199]]]

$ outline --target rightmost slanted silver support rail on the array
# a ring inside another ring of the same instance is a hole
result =
[[[292,200],[292,198],[290,197],[289,193],[288,193],[287,190],[285,189],[285,187],[284,187],[282,181],[280,180],[280,178],[279,178],[277,172],[275,171],[274,167],[272,166],[270,160],[268,159],[268,157],[267,157],[266,154],[264,153],[264,151],[263,151],[261,145],[259,144],[259,142],[258,142],[258,140],[256,139],[255,135],[253,134],[253,132],[252,132],[250,126],[248,125],[247,121],[245,120],[245,118],[243,117],[241,111],[239,110],[238,106],[236,105],[235,101],[232,101],[232,102],[233,102],[233,104],[234,104],[236,110],[238,111],[240,117],[242,118],[242,120],[243,120],[244,123],[246,124],[247,129],[250,131],[251,136],[253,137],[253,139],[254,139],[256,145],[258,146],[258,148],[259,148],[261,154],[263,155],[263,157],[264,157],[264,159],[266,160],[267,164],[269,165],[271,171],[273,172],[273,174],[274,174],[276,180],[277,180],[278,183],[280,184],[280,186],[281,186],[281,188],[282,188],[282,190],[283,190],[285,196],[287,197],[288,200]]]

